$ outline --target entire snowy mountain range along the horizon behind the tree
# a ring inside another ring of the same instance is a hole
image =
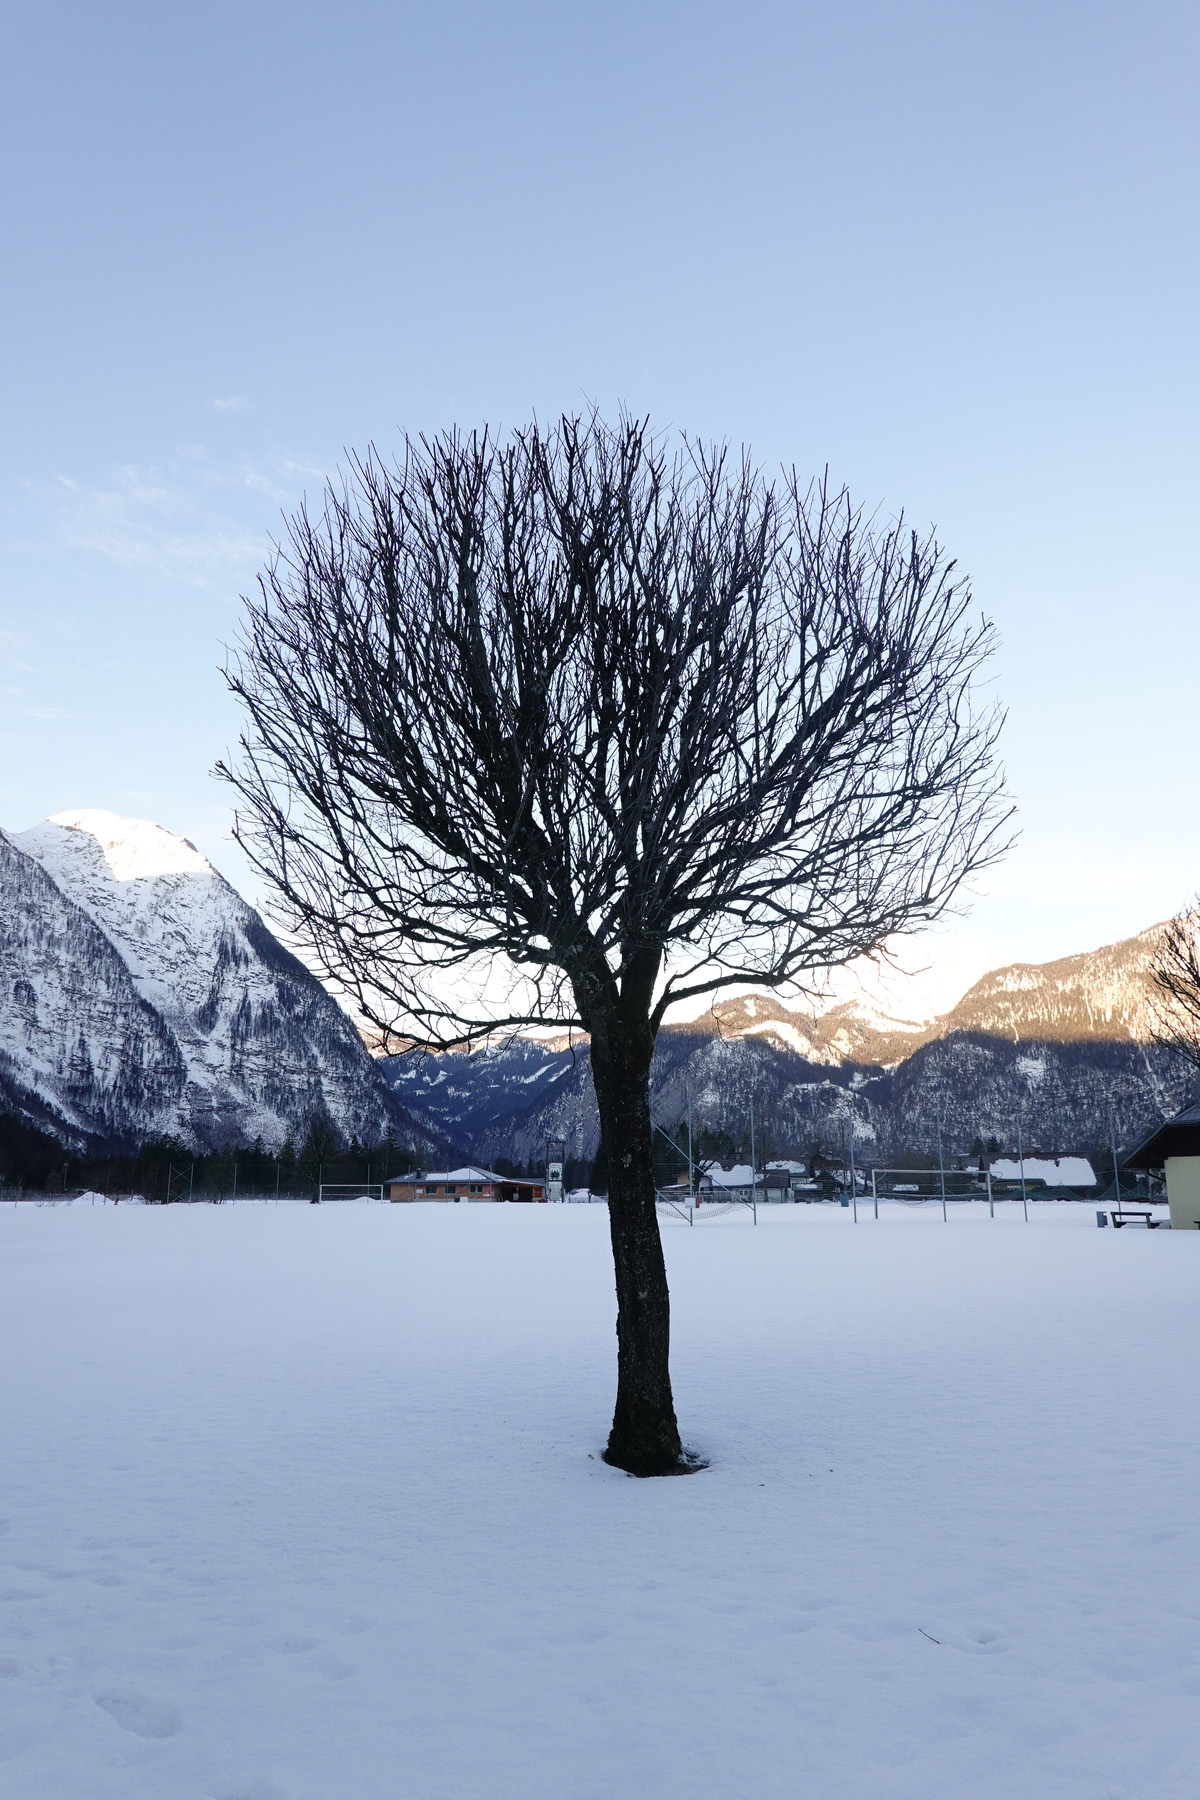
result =
[[[1110,1118],[1126,1141],[1191,1082],[1151,1042],[1162,931],[1000,965],[939,1013],[945,979],[905,988],[891,947],[887,981],[878,961],[838,972],[824,1006],[721,999],[658,1033],[655,1118],[675,1129],[691,1103],[698,1129],[739,1145],[754,1100],[775,1154],[853,1130],[862,1154],[894,1157],[939,1132],[1004,1139],[1018,1116],[1047,1150],[1103,1143]],[[569,1033],[376,1060],[187,839],[103,812],[0,832],[0,1109],[65,1139],[277,1147],[327,1114],[345,1138],[390,1129],[419,1154],[529,1161],[556,1136],[590,1159],[588,1055]]]

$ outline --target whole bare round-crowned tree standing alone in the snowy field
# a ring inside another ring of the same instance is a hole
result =
[[[937,918],[1000,853],[993,632],[932,536],[597,416],[405,441],[290,520],[227,679],[237,839],[392,1040],[578,1026],[608,1154],[606,1456],[687,1467],[649,1064],[684,999]],[[507,970],[507,976],[502,976]]]

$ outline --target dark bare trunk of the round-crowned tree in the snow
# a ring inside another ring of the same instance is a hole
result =
[[[671,1300],[662,1260],[649,1125],[648,1012],[592,1008],[592,1080],[608,1154],[608,1226],[617,1274],[617,1408],[604,1462],[631,1474],[680,1474],[671,1399]]]

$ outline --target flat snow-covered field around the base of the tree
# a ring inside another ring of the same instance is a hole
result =
[[[1031,1211],[664,1222],[633,1481],[599,1206],[0,1208],[0,1796],[1191,1800],[1200,1237]]]

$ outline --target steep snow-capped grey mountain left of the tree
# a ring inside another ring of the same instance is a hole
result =
[[[212,864],[108,812],[0,833],[0,1098],[110,1141],[407,1125],[351,1021]]]

